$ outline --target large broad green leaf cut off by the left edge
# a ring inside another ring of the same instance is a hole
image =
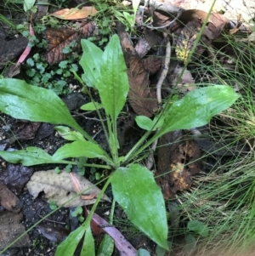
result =
[[[53,91],[19,79],[0,79],[0,111],[16,119],[65,124],[81,129],[65,103]]]

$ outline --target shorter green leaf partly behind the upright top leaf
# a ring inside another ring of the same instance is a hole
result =
[[[100,65],[103,51],[86,39],[82,39],[81,44],[83,54],[79,63],[82,65],[84,71],[82,80],[89,87],[98,88],[99,77],[101,77]]]

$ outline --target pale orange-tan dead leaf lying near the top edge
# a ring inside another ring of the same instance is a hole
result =
[[[94,6],[85,6],[82,7],[82,9],[61,9],[51,15],[62,20],[78,20],[85,19],[88,16],[92,16],[97,13],[98,11],[94,8]]]

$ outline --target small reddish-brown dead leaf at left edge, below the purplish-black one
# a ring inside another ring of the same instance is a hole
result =
[[[0,204],[10,212],[19,213],[21,208],[20,199],[8,189],[6,185],[0,184]]]

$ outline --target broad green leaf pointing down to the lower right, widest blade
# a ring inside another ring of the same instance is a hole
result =
[[[153,174],[139,164],[118,168],[113,174],[113,195],[133,225],[161,247],[167,247],[167,213]]]

